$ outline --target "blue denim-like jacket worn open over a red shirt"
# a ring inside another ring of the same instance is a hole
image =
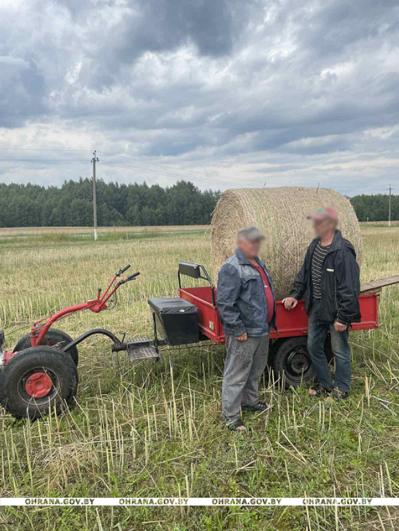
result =
[[[257,262],[266,272],[275,299],[272,320],[268,324],[268,304],[261,274],[237,249],[219,272],[217,307],[225,334],[238,337],[246,332],[259,337],[268,334],[270,326],[277,330],[272,277],[259,258]]]

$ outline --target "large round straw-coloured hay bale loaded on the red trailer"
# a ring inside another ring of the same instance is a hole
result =
[[[320,207],[333,207],[339,215],[344,238],[355,247],[360,265],[362,235],[350,201],[328,188],[279,187],[232,189],[223,192],[212,216],[212,265],[221,265],[236,248],[240,227],[254,225],[266,236],[261,259],[274,277],[277,299],[289,294],[313,239],[306,216]]]

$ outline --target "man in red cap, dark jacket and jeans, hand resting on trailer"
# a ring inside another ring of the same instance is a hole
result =
[[[310,313],[308,351],[318,382],[309,394],[321,396],[332,391],[335,400],[342,400],[351,389],[349,327],[361,317],[359,266],[353,245],[337,230],[334,209],[320,208],[310,218],[317,237],[310,243],[293,290],[283,302],[287,310],[293,310],[305,295]],[[334,386],[324,353],[328,330],[335,356]]]

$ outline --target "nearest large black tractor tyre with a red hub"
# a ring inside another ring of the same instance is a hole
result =
[[[15,418],[35,420],[54,410],[60,413],[76,392],[76,366],[53,346],[26,348],[0,373],[0,403]]]

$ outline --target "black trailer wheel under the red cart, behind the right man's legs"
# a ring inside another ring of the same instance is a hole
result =
[[[324,350],[330,363],[333,359],[330,335],[326,338]],[[297,387],[301,383],[313,384],[316,372],[310,360],[308,337],[290,337],[282,340],[273,353],[271,366],[276,379],[282,378],[284,374],[286,387]]]

